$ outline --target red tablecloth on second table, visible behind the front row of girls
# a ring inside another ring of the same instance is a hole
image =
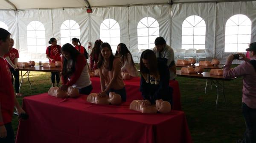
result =
[[[93,91],[92,93],[99,93],[101,91],[99,77],[91,78]],[[126,101],[131,102],[136,99],[142,100],[143,97],[140,92],[140,77],[133,77],[131,80],[125,80]],[[180,88],[178,81],[170,81],[169,86],[173,88],[173,105],[172,109],[181,110],[180,104]]]

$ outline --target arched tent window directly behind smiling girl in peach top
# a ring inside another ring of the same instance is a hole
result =
[[[116,53],[117,45],[120,43],[120,27],[113,19],[105,19],[100,24],[100,39],[111,45],[113,53]]]

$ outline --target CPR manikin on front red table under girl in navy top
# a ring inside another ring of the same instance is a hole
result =
[[[162,99],[156,100],[155,105],[143,105],[143,100],[134,100],[130,104],[130,109],[142,113],[168,113],[171,111],[172,107],[168,101],[163,101]]]

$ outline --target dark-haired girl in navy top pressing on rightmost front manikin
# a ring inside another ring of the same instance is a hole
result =
[[[157,58],[152,50],[145,50],[140,56],[140,92],[143,104],[155,104],[157,99],[169,101],[172,105],[172,87],[169,87],[167,59]]]

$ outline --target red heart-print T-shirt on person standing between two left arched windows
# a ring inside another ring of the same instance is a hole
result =
[[[56,46],[49,46],[46,48],[46,54],[54,59],[54,63],[55,61],[61,61],[61,46],[60,45],[56,45]],[[51,60],[49,60],[49,62],[52,62]]]

